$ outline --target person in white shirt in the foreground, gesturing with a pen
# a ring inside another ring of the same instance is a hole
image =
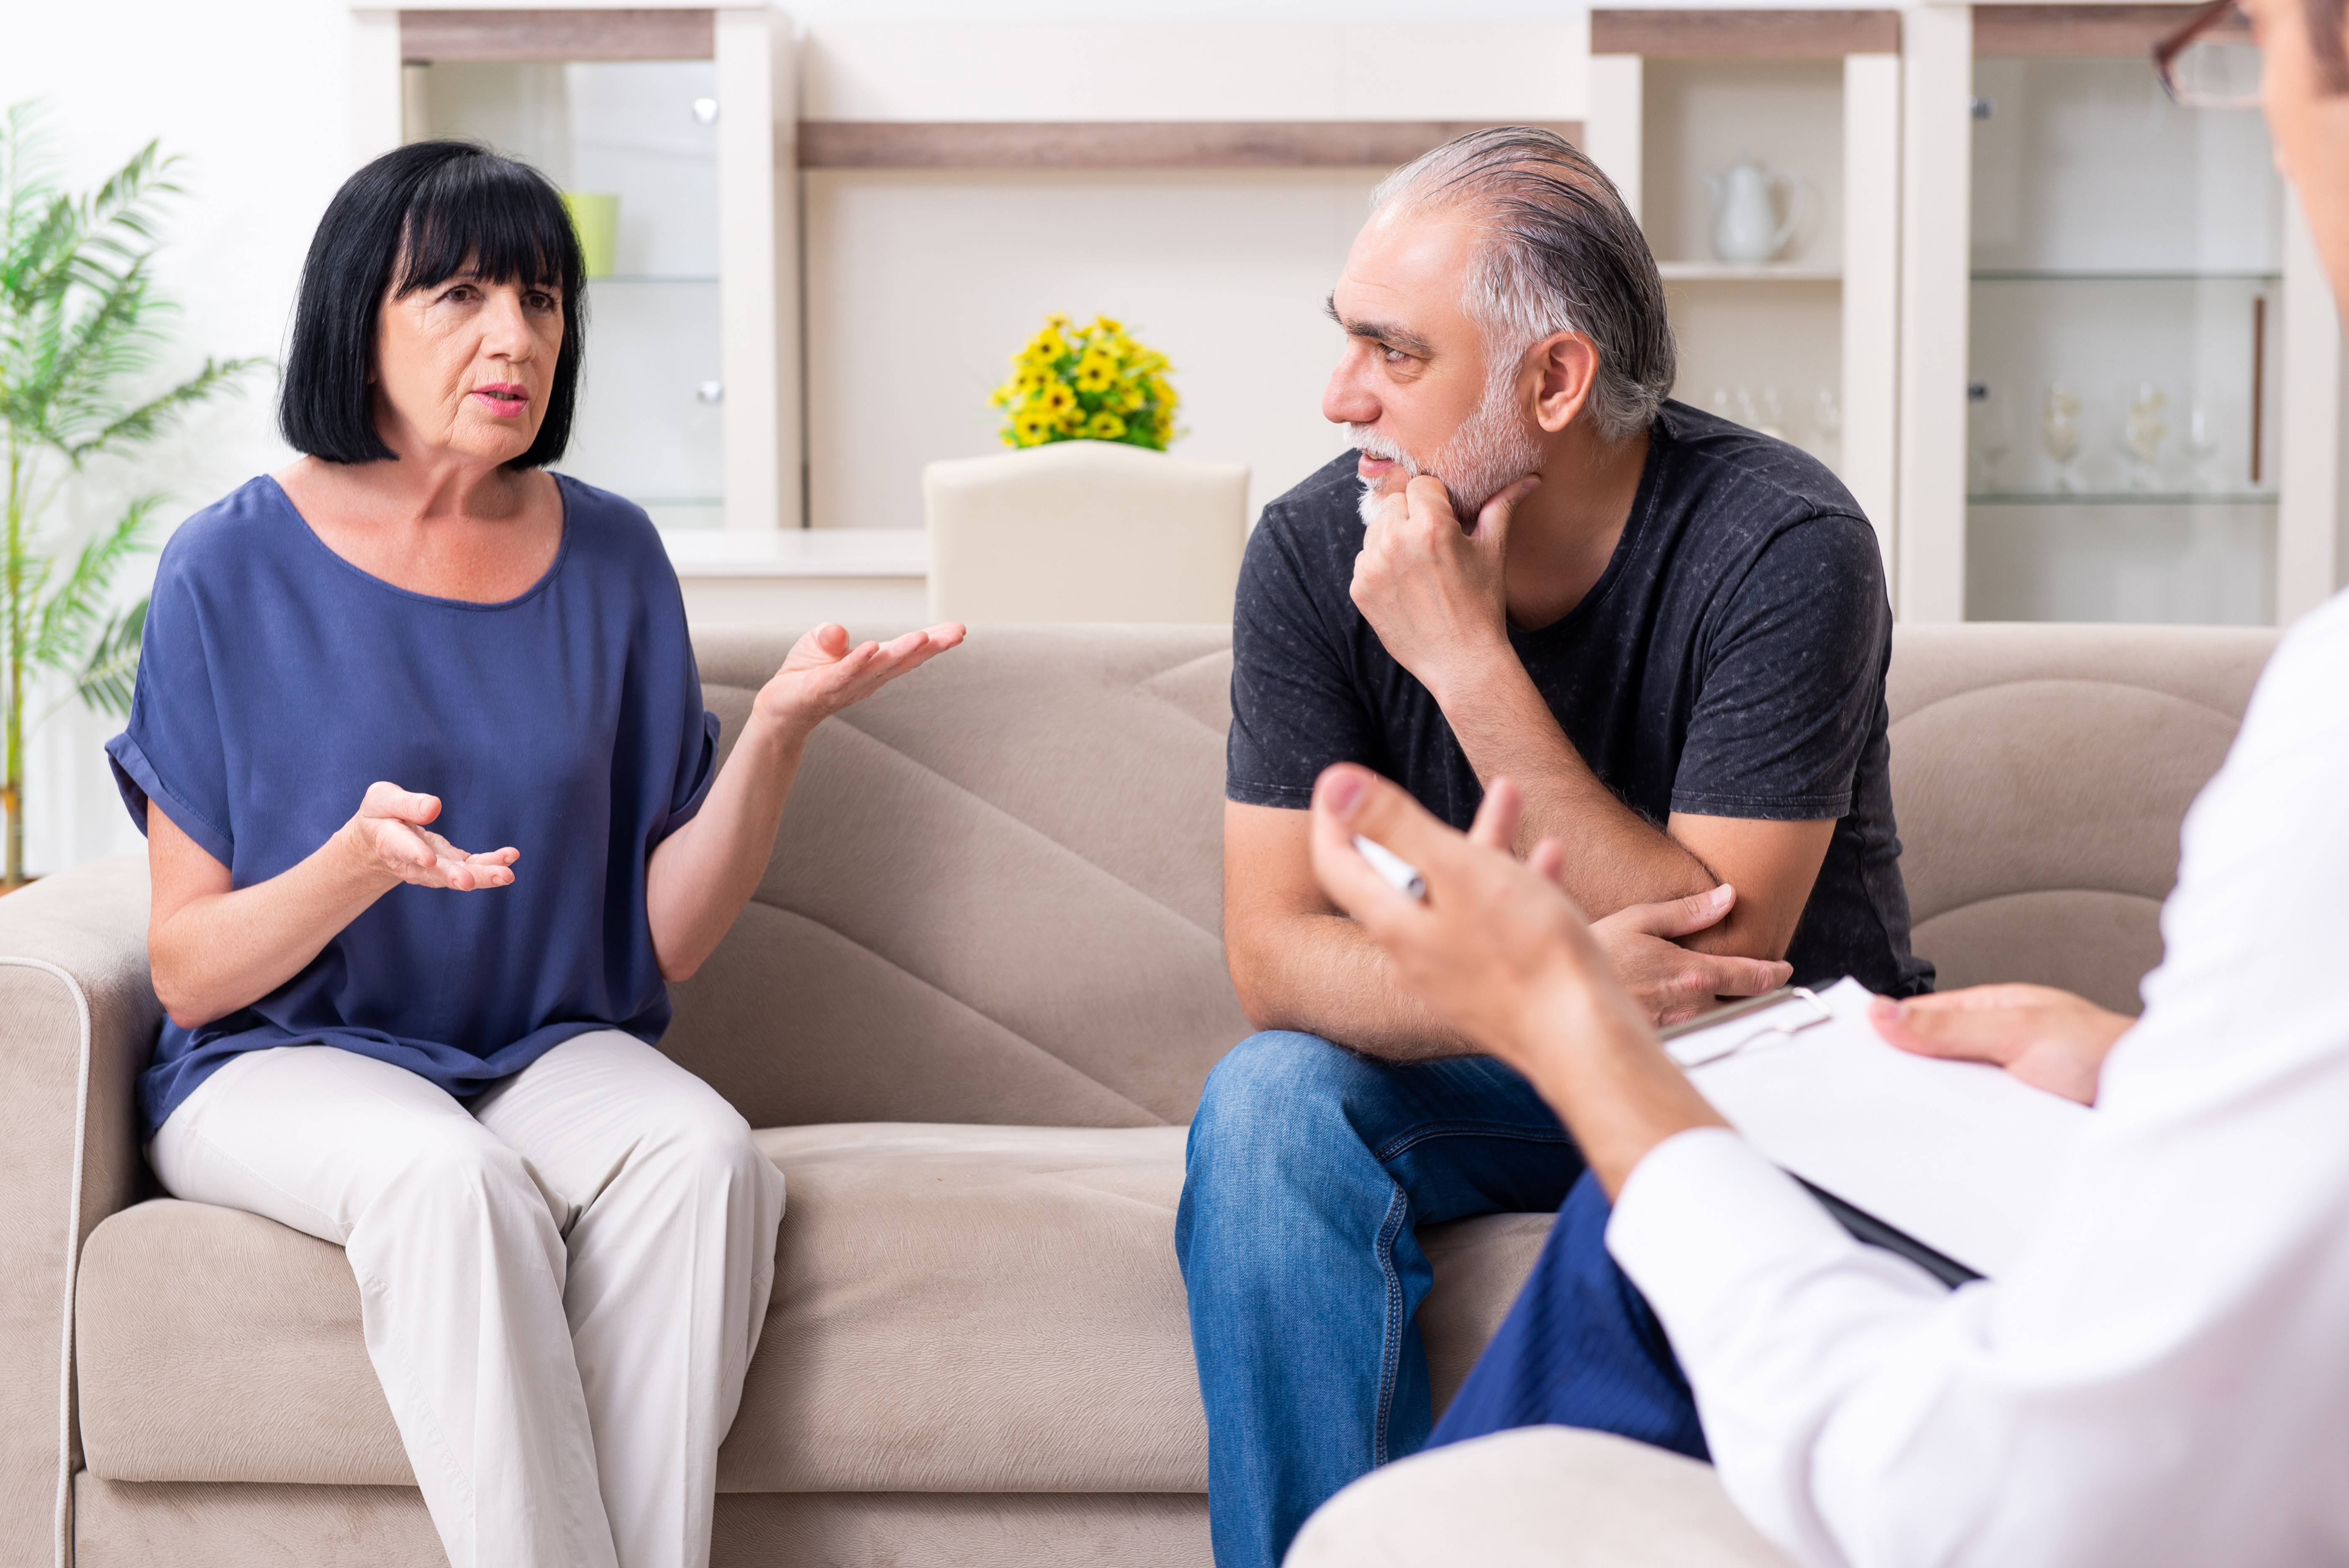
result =
[[[2344,0],[2243,9],[2279,167],[2349,317]],[[2098,1106],[2027,1258],[1954,1293],[1853,1242],[1722,1124],[1609,979],[1555,887],[1560,850],[1508,857],[1513,786],[1466,840],[1360,768],[1322,775],[1313,817],[1330,894],[1574,1131],[1722,1486],[1781,1552],[2349,1561],[2349,594],[2283,638],[2187,815],[2140,1021],[2037,986],[1879,1002],[1910,1049]],[[1416,864],[1426,904],[1355,833]],[[1546,1455],[1593,1441],[1527,1427],[1402,1460],[1325,1505],[1290,1563],[1407,1561],[1395,1542],[1426,1535],[1431,1498],[1445,1561],[1595,1561],[1571,1512],[1525,1530],[1562,1479]]]

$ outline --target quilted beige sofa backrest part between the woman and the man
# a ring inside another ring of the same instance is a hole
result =
[[[1224,972],[1221,627],[982,627],[817,728],[662,1047],[754,1127],[1186,1122]],[[702,627],[731,744],[792,634]]]

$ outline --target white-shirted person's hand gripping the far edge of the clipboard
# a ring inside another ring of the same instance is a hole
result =
[[[1966,986],[1877,998],[1867,1021],[1903,1052],[2001,1066],[2034,1089],[2095,1103],[2105,1056],[2135,1019],[2055,986]]]

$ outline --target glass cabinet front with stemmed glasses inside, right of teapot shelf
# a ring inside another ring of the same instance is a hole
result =
[[[1973,63],[1966,617],[2276,620],[2283,188],[2142,52]]]

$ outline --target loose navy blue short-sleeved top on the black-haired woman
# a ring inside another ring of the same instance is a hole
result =
[[[477,1094],[573,1035],[669,1023],[644,871],[716,772],[686,606],[644,512],[557,477],[564,538],[519,599],[397,589],[254,479],[171,535],[129,728],[106,744],[251,887],[324,845],[376,779],[442,798],[465,850],[514,845],[512,887],[399,885],[301,974],[197,1028],[164,1021],[141,1138],[223,1061],[334,1045]]]

